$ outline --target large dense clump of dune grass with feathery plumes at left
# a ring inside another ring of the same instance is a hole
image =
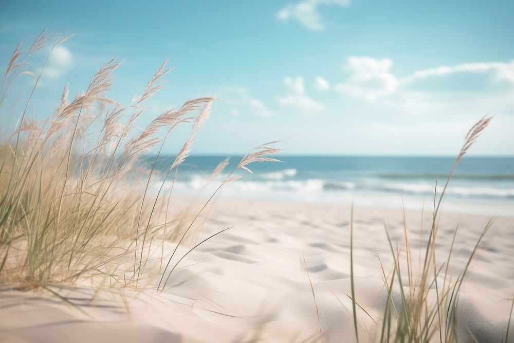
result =
[[[240,177],[233,175],[237,169],[250,171],[250,163],[276,161],[267,155],[279,150],[263,145],[251,151],[194,215],[173,211],[178,208],[171,199],[173,187],[164,185],[170,177],[174,183],[217,99],[188,100],[139,129],[136,122],[146,115],[146,102],[171,70],[169,60],[140,96],[123,105],[107,97],[123,63],[115,58],[97,71],[83,94],[68,100],[66,86],[55,113],[44,116],[49,119],[30,119],[27,110],[46,62],[36,75],[28,69],[29,59],[38,52],[51,54],[68,38],[45,30],[28,50],[20,44],[2,81],[0,106],[5,110],[15,82],[23,75],[35,78],[24,110],[14,114],[15,127],[2,132],[0,141],[0,281],[30,288],[91,279],[99,286],[140,287],[154,275],[161,276],[157,288],[163,290],[192,251],[177,257],[178,247],[191,236],[215,194]],[[190,137],[167,171],[158,172],[167,138],[177,126],[188,124]],[[153,152],[150,163],[148,158],[141,161],[145,151]],[[222,161],[212,176],[223,173],[227,164]],[[164,245],[170,241],[174,250],[166,256]],[[159,252],[159,270],[145,270]]]

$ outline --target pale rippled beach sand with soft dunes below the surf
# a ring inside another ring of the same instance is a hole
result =
[[[414,260],[421,214],[407,212]],[[487,216],[444,213],[437,251],[448,255],[460,224],[452,270],[460,271]],[[356,299],[380,323],[392,259],[382,221],[403,246],[401,211],[356,208]],[[425,228],[428,216],[425,218]],[[198,237],[233,226],[182,261],[163,292],[105,290],[84,282],[53,287],[77,307],[46,291],[0,292],[0,341],[5,342],[325,342],[355,339],[350,294],[350,208],[315,204],[218,200]],[[460,331],[479,341],[505,337],[514,295],[514,218],[500,217],[470,266],[461,294]],[[375,251],[375,246],[377,251]],[[403,249],[402,251],[405,251]],[[444,257],[444,258],[443,258]],[[154,266],[156,267],[156,266]],[[336,298],[337,296],[337,298]],[[92,300],[93,299],[93,300]],[[339,300],[338,300],[339,299]],[[358,309],[359,338],[374,341],[380,327]],[[437,337],[438,338],[438,337]],[[514,341],[514,330],[509,338]]]

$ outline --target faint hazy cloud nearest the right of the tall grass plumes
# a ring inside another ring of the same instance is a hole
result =
[[[259,99],[253,98],[248,90],[243,87],[227,88],[219,95],[230,106],[229,113],[232,116],[250,114],[258,117],[271,117],[271,112],[266,104]]]

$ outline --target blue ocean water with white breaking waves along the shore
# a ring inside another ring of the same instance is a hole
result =
[[[230,156],[226,171],[242,156]],[[226,156],[190,156],[180,166],[173,191],[208,195],[223,180],[209,185],[211,171]],[[453,157],[280,156],[284,163],[255,163],[254,174],[223,188],[221,197],[287,202],[351,204],[367,207],[420,209],[433,204],[443,189]],[[162,156],[165,171],[173,156]],[[436,190],[436,182],[438,183]],[[171,181],[167,182],[171,186]],[[464,157],[448,189],[445,208],[451,211],[514,216],[514,157]]]

